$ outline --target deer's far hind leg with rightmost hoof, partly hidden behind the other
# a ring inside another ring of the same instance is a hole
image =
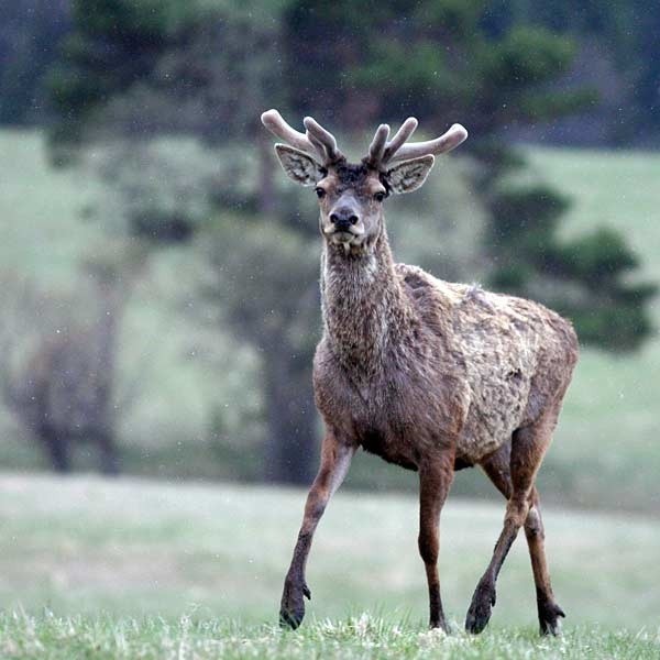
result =
[[[513,484],[509,465],[510,446],[503,446],[497,452],[482,464],[482,468],[495,487],[508,499],[512,496]],[[525,537],[529,549],[529,558],[534,571],[537,606],[541,635],[558,635],[559,617],[564,617],[562,608],[557,604],[552,593],[548,562],[546,560],[544,529],[541,518],[540,497],[536,486],[531,490],[529,513],[525,520]]]

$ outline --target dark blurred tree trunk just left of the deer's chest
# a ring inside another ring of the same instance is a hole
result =
[[[265,356],[267,441],[265,477],[270,482],[309,485],[316,472],[318,425],[309,356],[292,356],[283,341],[268,346]]]

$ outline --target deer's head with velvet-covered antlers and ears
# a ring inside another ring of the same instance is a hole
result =
[[[383,202],[391,195],[411,193],[426,180],[435,156],[459,146],[468,131],[453,124],[447,133],[427,142],[407,143],[417,128],[408,118],[389,140],[389,127],[381,124],[366,156],[349,163],[337,140],[311,117],[305,133],[287,124],[277,110],[262,114],[262,122],[287,144],[275,151],[285,173],[301,186],[315,188],[319,198],[321,234],[345,254],[369,251],[383,228]]]

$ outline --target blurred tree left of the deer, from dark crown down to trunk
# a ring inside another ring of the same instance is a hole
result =
[[[276,199],[271,141],[258,122],[268,105],[285,98],[278,3],[228,3],[216,7],[212,16],[201,2],[190,2],[183,13],[170,11],[169,6],[180,7],[175,1],[153,4],[150,10],[146,2],[138,11],[129,0],[74,2],[75,30],[50,77],[61,109],[54,144],[85,143],[110,133],[135,145],[169,132],[222,145],[221,173],[207,176],[206,184],[200,178],[196,186],[200,199],[213,200],[233,217],[232,222],[220,218],[212,231],[208,223],[201,230],[212,271],[206,297],[222,308],[224,322],[262,358],[268,426],[264,476],[308,482],[317,438],[309,365],[318,317],[318,264],[314,246],[306,244],[312,232],[301,230],[305,223],[292,222],[297,205],[290,196],[288,204]],[[103,65],[97,56],[103,50],[118,58],[116,66]],[[246,143],[255,142],[256,150],[246,150]],[[178,164],[172,157],[160,165],[152,161],[148,167],[144,162],[135,167],[135,160],[128,163],[132,172],[117,172],[116,178],[142,191],[154,188],[143,176],[148,169],[158,182],[175,170],[183,174],[180,158]],[[121,168],[119,162],[114,165]],[[197,156],[195,170],[208,172]],[[182,177],[176,178],[174,187],[180,188]],[[148,194],[132,196],[135,204],[125,208],[133,230],[145,230],[154,245],[169,242],[172,232],[165,228],[173,218],[187,232],[204,224],[180,195],[165,195],[173,204],[158,197],[154,202]],[[260,237],[267,237],[267,244]],[[294,267],[299,277],[292,277]],[[305,299],[312,304],[300,305]]]

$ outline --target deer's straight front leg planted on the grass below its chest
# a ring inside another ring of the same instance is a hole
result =
[[[419,468],[419,554],[424,561],[429,585],[429,626],[449,627],[442,612],[438,553],[440,550],[440,512],[453,481],[453,452],[435,457]]]

